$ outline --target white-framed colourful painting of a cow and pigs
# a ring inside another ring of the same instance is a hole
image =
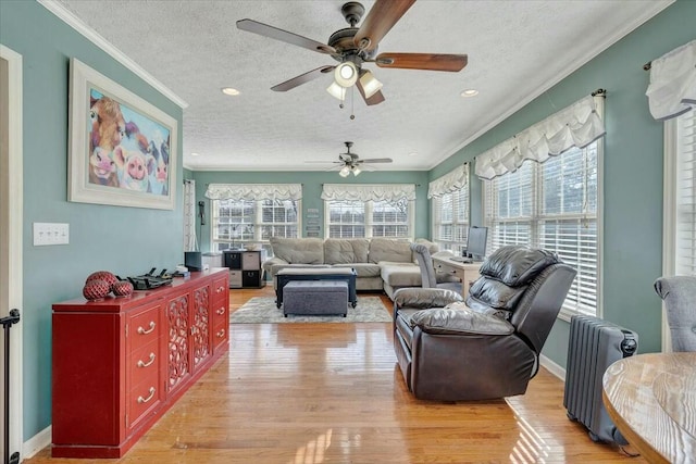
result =
[[[67,199],[173,210],[177,122],[72,59]]]

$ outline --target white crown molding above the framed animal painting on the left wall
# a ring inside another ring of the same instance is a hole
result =
[[[174,93],[171,89],[169,89],[164,84],[160,83],[150,73],[145,71],[140,65],[138,65],[135,61],[129,59],[124,52],[119,50],[113,43],[109,40],[100,36],[95,29],[89,27],[85,22],[83,22],[79,17],[77,17],[73,12],[67,10],[61,3],[55,0],[37,0],[39,4],[46,8],[48,11],[58,16],[65,24],[71,26],[77,33],[82,34],[87,40],[99,47],[101,50],[107,52],[111,58],[116,60],[119,63],[123,64],[142,80],[148,83],[150,86],[154,87],[160,93],[162,93],[167,99],[172,100],[179,108],[186,109],[188,103],[179,98],[176,93]]]

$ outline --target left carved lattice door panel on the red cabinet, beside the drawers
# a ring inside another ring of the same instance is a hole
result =
[[[169,321],[169,381],[171,391],[190,374],[188,365],[188,296],[170,301],[166,308]]]

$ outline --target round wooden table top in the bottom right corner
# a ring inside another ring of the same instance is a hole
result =
[[[602,399],[616,426],[646,461],[696,462],[696,353],[617,361],[605,373]]]

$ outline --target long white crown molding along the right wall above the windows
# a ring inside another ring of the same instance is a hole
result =
[[[583,57],[579,58],[577,60],[573,61],[573,63],[571,63],[564,70],[561,70],[561,72],[558,73],[558,75],[556,75],[552,79],[549,79],[546,83],[544,83],[540,86],[538,86],[536,88],[536,90],[530,92],[527,98],[522,99],[517,104],[510,106],[508,109],[508,111],[502,113],[499,117],[496,117],[495,120],[493,120],[490,123],[488,123],[485,126],[483,126],[476,133],[471,135],[471,137],[467,138],[461,143],[458,143],[456,147],[452,147],[450,150],[446,150],[444,152],[443,156],[440,156],[439,159],[436,159],[427,170],[435,168],[440,163],[443,163],[445,160],[447,160],[448,158],[450,158],[451,155],[453,155],[455,153],[457,153],[461,149],[465,148],[469,143],[471,143],[472,141],[476,140],[478,137],[483,136],[488,130],[490,130],[494,127],[496,127],[498,124],[502,123],[505,120],[507,120],[508,117],[510,117],[511,115],[517,113],[519,110],[524,108],[527,103],[531,103],[532,101],[534,101],[534,99],[536,99],[537,97],[542,96],[545,91],[547,91],[548,89],[554,87],[556,84],[560,83],[566,77],[570,76],[572,73],[574,73],[575,71],[580,70],[582,66],[587,64],[591,60],[596,58],[599,53],[601,53],[602,51],[607,50],[609,47],[611,47],[612,45],[614,45],[616,42],[618,42],[619,40],[621,40],[622,38],[624,38],[629,34],[631,34],[633,30],[637,29],[639,26],[642,26],[648,20],[650,20],[654,16],[656,16],[658,13],[660,13],[662,10],[664,10],[666,8],[668,8],[669,5],[674,3],[675,1],[676,0],[661,0],[661,1],[650,2],[649,3],[649,8],[646,8],[641,16],[637,16],[632,22],[629,22],[629,23],[624,24],[623,27],[617,29],[614,32],[614,34],[608,36],[606,38],[606,40],[604,40],[602,42],[597,45],[597,47],[595,47],[594,49],[589,50],[587,53],[585,53],[585,55],[583,55]],[[600,83],[597,83],[597,85],[601,86]]]

